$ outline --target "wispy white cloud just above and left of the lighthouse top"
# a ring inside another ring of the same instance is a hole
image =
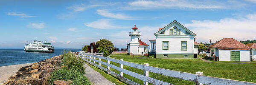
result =
[[[126,28],[123,26],[115,26],[111,23],[110,19],[99,19],[91,23],[84,23],[85,26],[100,29],[114,29],[114,28]]]

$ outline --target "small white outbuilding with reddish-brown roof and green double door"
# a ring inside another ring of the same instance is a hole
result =
[[[250,61],[250,47],[233,38],[223,38],[210,45],[210,55],[219,57],[219,61]]]

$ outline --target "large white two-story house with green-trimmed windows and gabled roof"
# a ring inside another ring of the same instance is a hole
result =
[[[150,42],[150,54],[156,58],[194,58],[198,54],[199,43],[195,33],[176,20],[154,33],[155,40]]]

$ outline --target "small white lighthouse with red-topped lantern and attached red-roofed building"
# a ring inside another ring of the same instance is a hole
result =
[[[140,40],[139,28],[134,25],[134,28],[131,28],[129,36],[131,36],[131,41],[127,44],[128,54],[145,54],[148,52],[148,44]]]

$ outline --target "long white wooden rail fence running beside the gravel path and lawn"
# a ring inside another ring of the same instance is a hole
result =
[[[85,54],[79,52],[79,57],[86,62],[101,68],[104,71],[107,71],[109,74],[112,74],[113,76],[119,78],[120,80],[130,84],[130,85],[140,85],[137,82],[131,81],[130,79],[127,79],[122,76],[123,73],[128,74],[132,77],[135,77],[137,79],[141,79],[144,81],[144,85],[148,85],[148,82],[154,85],[174,85],[169,82],[163,82],[161,80],[157,80],[151,77],[148,77],[148,71],[157,73],[157,74],[162,74],[166,75],[169,77],[175,77],[179,79],[184,79],[188,81],[195,82],[196,85],[256,85],[256,83],[253,82],[244,82],[244,81],[238,81],[238,80],[232,80],[232,79],[223,79],[223,78],[217,78],[217,77],[209,77],[209,76],[204,76],[203,72],[196,72],[196,74],[191,74],[191,73],[186,73],[186,72],[181,72],[181,71],[174,71],[174,70],[169,70],[169,69],[164,69],[164,68],[157,68],[157,67],[152,67],[149,66],[147,63],[144,65],[133,63],[133,62],[127,62],[123,61],[123,59],[113,59],[110,57],[102,57],[102,56],[97,56],[97,55],[92,55],[92,54]],[[90,58],[93,57],[93,58]],[[95,59],[99,58],[99,60]],[[89,59],[89,60],[88,60]],[[106,59],[108,62],[102,62],[101,59]],[[91,62],[93,60],[93,62]],[[117,67],[115,65],[110,64],[110,61],[119,63],[120,66]],[[96,64],[95,62],[99,62],[99,65]],[[101,64],[107,65],[108,68],[104,68],[101,66]],[[127,65],[133,68],[138,68],[141,70],[144,70],[144,75],[142,74],[137,74],[135,72],[126,70],[123,68],[123,65]],[[110,70],[111,68],[116,69],[117,71],[120,71],[119,74],[113,72]]]

